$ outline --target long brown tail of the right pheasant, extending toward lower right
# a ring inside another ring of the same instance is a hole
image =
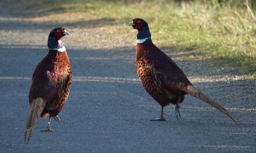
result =
[[[205,103],[208,103],[208,104],[212,105],[217,110],[221,111],[223,114],[226,114],[227,116],[229,116],[229,118],[232,119],[234,122],[241,125],[241,122],[238,119],[234,118],[234,116],[232,114],[230,114],[230,112],[227,111],[224,107],[222,107],[222,105],[216,103],[214,100],[212,100],[206,94],[201,93],[200,91],[198,91],[196,88],[194,88],[194,86],[188,85],[186,92],[188,94],[190,94],[191,96],[193,96],[197,99],[200,99],[200,100],[204,101]]]

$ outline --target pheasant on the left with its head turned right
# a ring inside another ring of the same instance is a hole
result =
[[[67,97],[72,82],[72,71],[66,48],[61,38],[69,35],[64,28],[55,28],[49,33],[47,56],[34,70],[29,92],[30,114],[24,132],[25,143],[29,143],[35,123],[39,116],[45,119],[49,115],[48,126],[42,132],[54,132],[51,129],[51,117],[58,117]]]

